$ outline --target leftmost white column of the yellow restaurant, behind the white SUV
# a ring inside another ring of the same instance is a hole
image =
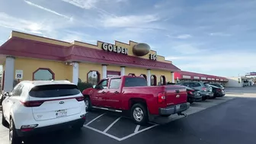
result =
[[[4,91],[11,92],[14,83],[14,61],[15,58],[12,56],[6,56],[5,61],[5,85]]]

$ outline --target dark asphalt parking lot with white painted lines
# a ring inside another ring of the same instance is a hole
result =
[[[255,109],[256,98],[216,98],[191,104],[188,117],[156,118],[148,126],[136,125],[119,114],[94,110],[80,132],[59,130],[24,143],[254,143]],[[3,126],[0,142],[8,143],[8,129]]]

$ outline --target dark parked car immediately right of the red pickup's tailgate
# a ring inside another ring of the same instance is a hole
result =
[[[183,85],[183,84],[181,84]],[[200,91],[195,88],[190,88],[184,85],[187,89],[187,102],[190,104],[198,101],[202,101],[202,95],[200,94]]]

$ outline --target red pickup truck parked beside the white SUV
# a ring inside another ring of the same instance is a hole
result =
[[[87,110],[92,107],[123,112],[139,124],[149,121],[150,115],[184,115],[187,110],[186,88],[180,85],[147,86],[146,79],[136,76],[104,78],[94,88],[82,91]]]

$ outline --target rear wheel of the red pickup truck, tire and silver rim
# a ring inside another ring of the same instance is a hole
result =
[[[135,123],[146,125],[149,121],[148,111],[145,104],[133,104],[131,108],[131,117]]]

